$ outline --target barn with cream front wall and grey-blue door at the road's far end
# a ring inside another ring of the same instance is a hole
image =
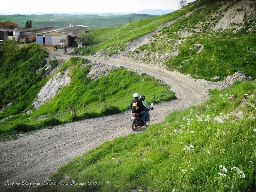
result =
[[[74,46],[78,34],[87,31],[87,26],[75,25],[71,27],[55,29],[48,32],[36,34],[36,43],[39,45],[61,45]]]

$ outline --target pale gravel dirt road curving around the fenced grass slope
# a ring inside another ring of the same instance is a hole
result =
[[[61,57],[69,56],[61,55]],[[155,105],[154,110],[151,111],[151,123],[161,122],[169,112],[200,104],[208,98],[207,91],[196,81],[177,72],[134,63],[134,61],[87,58],[91,61],[145,72],[171,85],[178,99]],[[143,130],[136,132],[141,131]],[[44,183],[44,180],[47,180],[58,167],[74,157],[105,141],[131,133],[134,132],[130,128],[130,112],[125,112],[55,126],[51,130],[41,130],[18,140],[0,142],[1,191],[31,190],[33,187],[22,185],[22,182]],[[20,185],[5,185],[7,180],[9,184],[20,183]]]

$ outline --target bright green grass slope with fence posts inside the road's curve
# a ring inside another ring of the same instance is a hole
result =
[[[55,61],[52,60],[52,62]],[[37,121],[39,116],[45,116],[47,122],[52,119],[53,124],[54,122],[59,124],[59,122],[67,123],[126,111],[130,108],[130,101],[134,92],[146,95],[146,100],[150,103],[176,98],[173,92],[166,89],[166,85],[160,84],[147,74],[139,76],[133,71],[122,68],[110,71],[109,75],[91,81],[90,77],[86,77],[91,65],[86,59],[71,57],[56,72],[63,72],[69,68],[70,73],[68,75],[71,78],[71,83],[63,87],[59,94],[38,110],[34,109],[31,104],[28,105],[32,109],[32,112],[28,114],[29,126],[26,125],[28,122],[25,114],[17,114],[4,122],[0,122],[1,140],[17,138],[19,133],[43,129],[44,121]],[[37,90],[35,94],[39,91],[38,88],[43,86],[46,80],[52,76],[33,85]],[[143,79],[146,81],[142,81]],[[71,106],[75,107],[76,116],[71,116]],[[25,128],[23,129],[23,127]]]

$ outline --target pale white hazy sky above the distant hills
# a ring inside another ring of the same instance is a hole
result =
[[[1,0],[7,3],[7,1]],[[180,0],[12,0],[7,6],[1,6],[0,14],[37,13],[37,12],[136,12],[143,9],[179,9]],[[193,2],[195,0],[187,0]]]

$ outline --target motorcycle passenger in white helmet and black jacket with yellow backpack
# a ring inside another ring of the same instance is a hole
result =
[[[138,93],[133,94],[133,99],[131,100],[131,109],[132,109],[132,113],[137,113],[142,116],[140,120],[140,124],[147,126],[145,123],[145,119],[148,116],[148,113],[145,111],[146,109],[142,101],[139,100]]]

